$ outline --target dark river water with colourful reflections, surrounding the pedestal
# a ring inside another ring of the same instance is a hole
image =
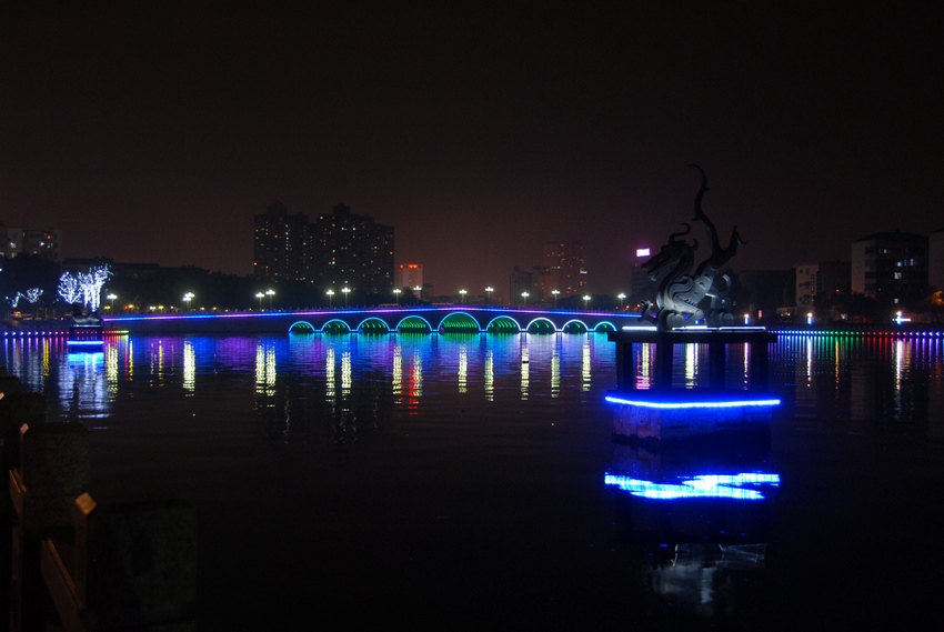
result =
[[[782,334],[769,442],[661,450],[613,440],[603,334],[7,340],[2,364],[89,428],[94,496],[194,505],[204,630],[936,630],[942,344]],[[676,358],[696,382],[705,350]]]

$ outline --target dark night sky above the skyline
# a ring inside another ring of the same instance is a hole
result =
[[[245,274],[273,199],[343,201],[473,294],[558,240],[625,290],[691,162],[740,270],[944,227],[933,2],[339,4],[4,2],[0,220]]]

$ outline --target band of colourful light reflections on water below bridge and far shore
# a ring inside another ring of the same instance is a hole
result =
[[[942,339],[782,334],[771,351],[771,384],[786,417],[851,424],[927,423],[942,391]],[[109,417],[129,389],[167,388],[199,395],[214,377],[244,381],[252,371],[259,397],[273,397],[292,380],[350,399],[366,380],[382,383],[394,407],[421,410],[426,393],[451,392],[495,401],[514,389],[519,401],[556,400],[569,389],[585,395],[612,387],[613,345],[601,334],[556,335],[291,335],[116,338],[99,354],[70,354],[61,339],[6,340],[3,364],[28,391],[51,400],[53,417]],[[637,387],[650,385],[654,350],[636,345]],[[731,345],[729,387],[747,382],[749,349]],[[675,383],[700,385],[706,345],[675,353]],[[585,397],[580,401],[586,401]]]

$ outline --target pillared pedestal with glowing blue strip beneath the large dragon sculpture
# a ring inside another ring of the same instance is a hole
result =
[[[780,398],[770,392],[767,345],[776,334],[757,328],[624,329],[610,332],[616,343],[616,390],[606,395],[614,404],[613,432],[642,440],[684,441],[721,433],[766,435],[771,412]],[[649,363],[640,362],[634,345],[652,345],[652,372],[642,379]],[[697,385],[673,380],[679,345],[707,345],[709,362]],[[746,369],[739,368],[743,388],[727,380],[729,348],[744,344]]]

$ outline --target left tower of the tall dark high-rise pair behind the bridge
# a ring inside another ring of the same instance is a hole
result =
[[[272,202],[255,215],[253,271],[270,283],[311,278],[311,227],[302,213],[290,215],[281,202]]]

